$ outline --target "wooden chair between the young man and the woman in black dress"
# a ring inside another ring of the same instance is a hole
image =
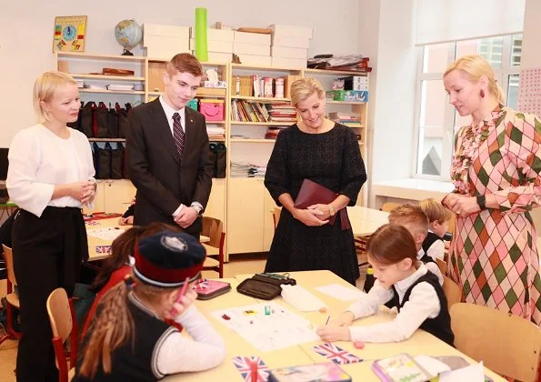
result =
[[[203,244],[206,249],[203,270],[214,270],[220,278],[224,277],[224,223],[215,217],[203,216],[201,235],[210,238],[210,241]],[[218,258],[214,258],[215,256]]]

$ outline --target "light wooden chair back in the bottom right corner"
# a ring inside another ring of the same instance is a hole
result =
[[[541,330],[525,318],[502,310],[459,303],[451,308],[458,350],[492,371],[532,382],[537,377]]]

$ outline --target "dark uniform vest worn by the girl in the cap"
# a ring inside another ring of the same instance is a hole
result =
[[[156,318],[134,297],[127,298],[127,307],[134,317],[134,341],[128,340],[112,353],[111,373],[105,374],[100,364],[92,381],[145,382],[165,377],[157,370],[157,353],[165,338],[177,330]],[[77,374],[72,382],[90,381],[78,375],[80,364],[81,359],[77,362]]]

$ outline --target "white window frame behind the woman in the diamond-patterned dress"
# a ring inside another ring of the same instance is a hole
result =
[[[513,47],[513,36],[514,35],[521,35],[522,33],[514,33],[511,35],[502,35],[504,38],[503,42],[503,48],[502,48],[502,67],[494,67],[494,73],[496,77],[497,83],[504,89],[504,93],[506,97],[508,96],[508,83],[509,83],[509,75],[520,75],[520,65],[512,65],[512,47]],[[493,37],[499,37],[493,36]],[[477,38],[477,40],[483,39],[483,38],[489,38],[482,37]],[[472,39],[468,39],[472,40]],[[462,40],[457,41],[450,41],[448,42],[448,48],[447,48],[447,63],[446,65],[450,65],[456,60],[456,45]],[[427,174],[420,174],[417,170],[420,166],[421,158],[419,157],[419,138],[421,134],[421,127],[426,128],[430,126],[421,126],[421,116],[423,115],[423,83],[424,81],[431,81],[431,80],[442,80],[443,79],[443,71],[442,72],[429,72],[424,73],[423,68],[425,64],[425,49],[426,46],[429,45],[423,45],[423,46],[417,46],[416,47],[416,102],[415,102],[415,113],[414,113],[414,127],[415,127],[415,134],[414,134],[414,141],[413,141],[413,157],[412,157],[412,177],[418,178],[418,179],[431,179],[431,180],[439,180],[439,181],[451,181],[451,162],[452,162],[452,150],[454,149],[454,140],[455,140],[455,128],[458,129],[461,126],[455,126],[455,108],[451,106],[448,103],[448,99],[446,101],[445,111],[444,111],[444,126],[442,126],[443,132],[442,132],[442,158],[441,158],[441,175],[427,175]],[[506,99],[507,103],[507,99]]]

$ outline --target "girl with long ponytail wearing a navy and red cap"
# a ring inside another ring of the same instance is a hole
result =
[[[224,341],[192,304],[196,293],[191,284],[200,276],[205,248],[193,236],[162,231],[141,239],[134,257],[133,275],[98,305],[79,354],[75,382],[155,381],[224,361]],[[169,318],[193,339],[166,324]]]

